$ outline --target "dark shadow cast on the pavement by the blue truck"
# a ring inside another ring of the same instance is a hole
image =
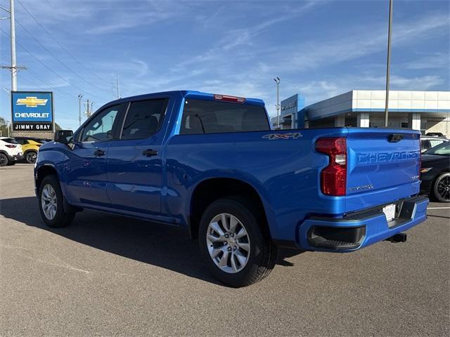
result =
[[[36,197],[1,199],[0,214],[96,249],[221,284],[203,263],[198,242],[179,227],[84,210],[69,227],[50,228],[41,220]],[[299,253],[302,251],[280,249],[277,264],[292,266],[285,258]]]

